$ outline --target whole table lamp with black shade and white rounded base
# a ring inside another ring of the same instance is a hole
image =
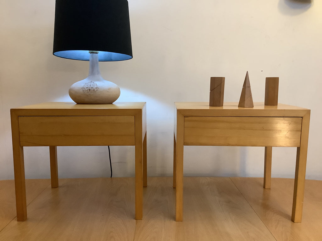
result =
[[[56,0],[53,55],[89,60],[86,79],[71,85],[69,95],[79,104],[108,104],[119,87],[100,75],[99,61],[131,59],[127,0]]]

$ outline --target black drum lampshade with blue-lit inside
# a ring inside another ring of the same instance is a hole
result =
[[[131,59],[127,0],[56,0],[53,55],[99,61]]]

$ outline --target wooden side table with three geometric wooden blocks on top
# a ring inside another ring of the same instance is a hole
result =
[[[265,147],[264,188],[270,188],[272,147],[297,147],[291,219],[301,222],[309,122],[310,110],[285,104],[254,103],[253,108],[241,108],[238,102],[222,107],[207,102],[175,103],[175,220],[183,220],[184,146],[252,146]]]

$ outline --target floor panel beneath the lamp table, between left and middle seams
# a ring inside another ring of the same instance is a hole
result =
[[[0,240],[133,241],[134,178],[60,179],[27,207],[28,219],[11,221]]]

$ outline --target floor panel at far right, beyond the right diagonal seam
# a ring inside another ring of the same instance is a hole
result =
[[[272,178],[263,189],[263,178],[231,178],[276,240],[322,240],[322,181],[306,180],[301,223],[291,221],[294,179]]]

